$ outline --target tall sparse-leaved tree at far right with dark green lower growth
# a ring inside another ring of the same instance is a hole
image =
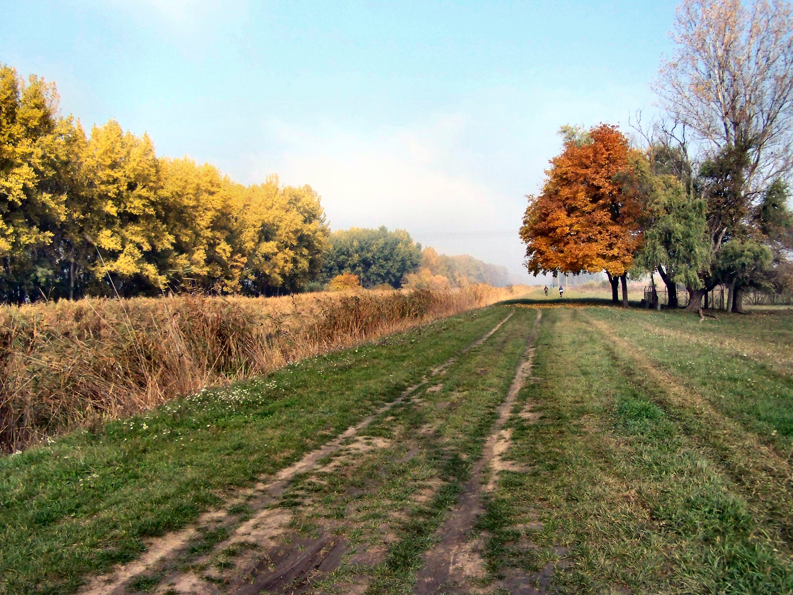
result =
[[[772,219],[787,217],[783,181],[793,167],[793,13],[787,2],[683,0],[673,40],[656,84],[667,111],[651,140],[684,166],[675,175],[704,202],[712,252],[692,259],[681,280],[689,309],[723,283],[740,311],[746,288],[791,282],[785,224]]]

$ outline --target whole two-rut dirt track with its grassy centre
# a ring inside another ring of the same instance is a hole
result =
[[[531,376],[540,314],[515,312],[335,440],[81,593],[388,592],[405,586],[400,563],[419,571],[416,593],[469,592],[485,573],[480,500],[509,468],[502,427]]]

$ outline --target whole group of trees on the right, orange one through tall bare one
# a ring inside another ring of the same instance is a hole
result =
[[[615,126],[563,127],[542,194],[529,197],[521,237],[527,267],[657,272],[676,307],[723,284],[741,311],[749,288],[793,287],[793,19],[786,2],[685,0],[661,66],[666,113],[631,147]]]

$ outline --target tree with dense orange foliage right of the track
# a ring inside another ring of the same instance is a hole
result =
[[[568,136],[551,159],[538,197],[528,196],[520,237],[529,272],[606,271],[616,298],[642,242],[640,202],[623,180],[632,173],[630,147],[616,126],[601,124],[582,139]]]

